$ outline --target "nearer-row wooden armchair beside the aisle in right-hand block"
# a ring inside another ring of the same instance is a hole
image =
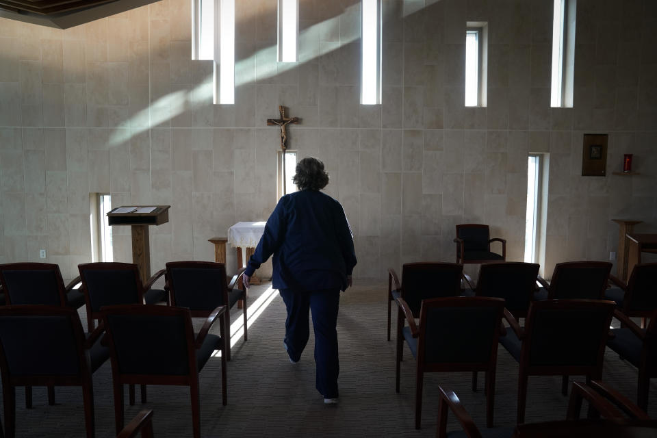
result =
[[[486,373],[486,423],[493,426],[495,366],[504,300],[454,297],[422,301],[420,326],[404,298],[396,298],[409,322],[403,330],[416,361],[415,428],[422,416],[422,383],[425,372],[484,371]],[[397,356],[396,391],[399,392],[400,355]]]

